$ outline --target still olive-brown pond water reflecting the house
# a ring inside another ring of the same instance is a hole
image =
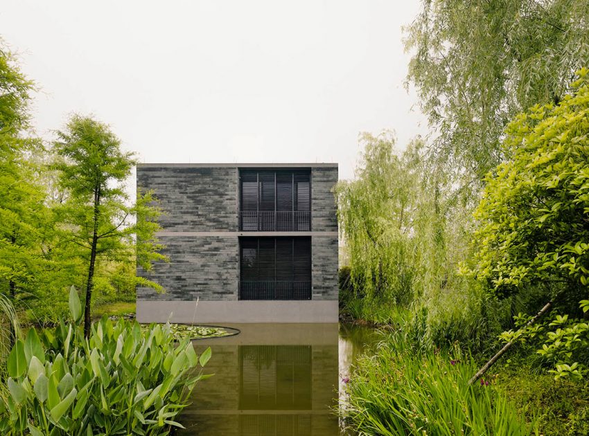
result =
[[[182,435],[337,436],[333,408],[355,359],[378,340],[345,324],[228,325],[240,334],[195,341],[213,356],[179,421]]]

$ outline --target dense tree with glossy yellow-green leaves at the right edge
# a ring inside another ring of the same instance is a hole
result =
[[[509,343],[546,334],[538,353],[557,377],[581,376],[573,361],[589,361],[589,325],[578,320],[589,314],[589,70],[578,77],[559,104],[536,105],[507,127],[509,160],[487,178],[471,269],[495,296],[539,287],[565,313],[534,327],[520,315],[522,328],[502,335]]]

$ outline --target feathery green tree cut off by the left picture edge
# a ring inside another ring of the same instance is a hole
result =
[[[44,262],[39,222],[45,194],[28,161],[42,147],[26,135],[33,89],[14,57],[0,49],[0,291],[17,309],[37,291]]]

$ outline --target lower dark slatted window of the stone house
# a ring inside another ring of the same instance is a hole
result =
[[[310,237],[240,238],[240,300],[310,300]]]

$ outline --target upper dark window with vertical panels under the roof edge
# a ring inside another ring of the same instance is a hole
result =
[[[239,185],[240,230],[311,230],[309,170],[241,170]]]

